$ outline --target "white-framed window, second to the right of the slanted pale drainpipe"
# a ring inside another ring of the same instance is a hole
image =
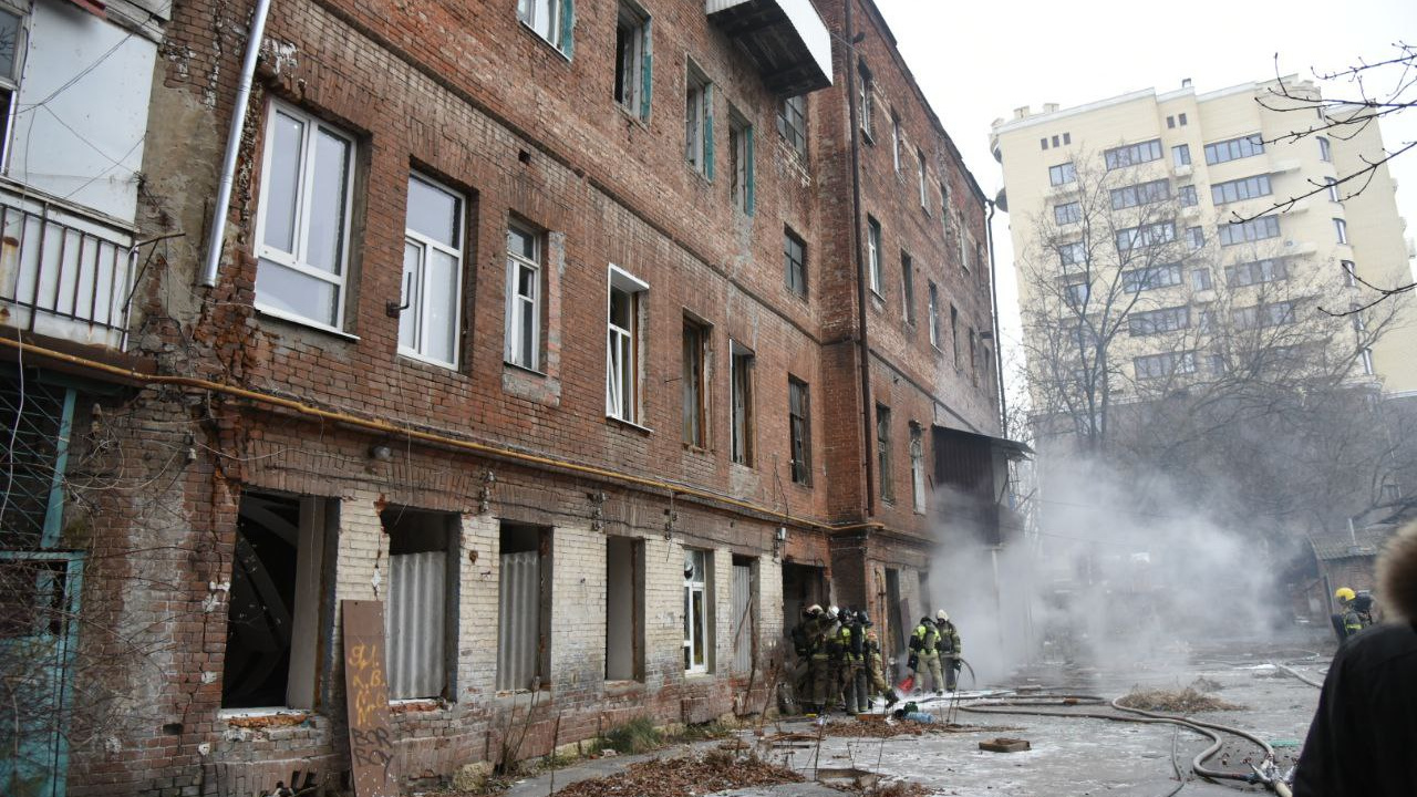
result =
[[[462,329],[462,197],[427,177],[408,177],[398,352],[458,367]]]

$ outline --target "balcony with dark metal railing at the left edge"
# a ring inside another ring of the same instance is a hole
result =
[[[133,251],[132,228],[0,182],[0,326],[119,349]]]

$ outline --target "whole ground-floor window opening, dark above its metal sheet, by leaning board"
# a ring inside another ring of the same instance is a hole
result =
[[[458,522],[452,512],[404,506],[380,513],[388,535],[388,698],[455,699]]]

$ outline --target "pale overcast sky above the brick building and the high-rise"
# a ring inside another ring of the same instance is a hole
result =
[[[1197,94],[1270,79],[1275,55],[1281,74],[1309,77],[1338,71],[1357,58],[1394,54],[1391,44],[1417,44],[1414,0],[1197,0],[1046,3],[995,0],[876,0],[915,79],[964,153],[985,194],[1003,186],[989,155],[989,125],[1013,109],[1044,102],[1061,108],[1156,88]],[[1413,75],[1408,75],[1413,79]],[[1372,87],[1380,91],[1382,87]],[[1336,95],[1332,87],[1325,95]],[[1417,109],[1383,123],[1396,149],[1417,140]],[[1417,224],[1417,150],[1393,163],[1399,210]],[[1417,228],[1408,228],[1408,235]],[[1017,343],[1019,325],[1007,216],[995,217],[999,248],[999,312],[1005,340]]]

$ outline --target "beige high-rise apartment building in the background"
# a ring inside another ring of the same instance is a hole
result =
[[[1318,96],[1305,81],[1282,85]],[[1197,94],[1185,81],[995,122],[1030,359],[1057,347],[1049,335],[1076,343],[1112,323],[1100,377],[1127,401],[1175,376],[1236,367],[1216,342],[1227,325],[1231,338],[1240,330],[1295,356],[1343,363],[1346,352],[1355,383],[1417,396],[1411,302],[1339,326],[1328,316],[1318,347],[1287,338],[1315,323],[1319,306],[1372,299],[1365,282],[1413,275],[1387,167],[1345,182],[1382,157],[1377,125],[1287,138],[1325,119],[1314,108],[1278,109],[1294,106],[1280,88]],[[1047,318],[1061,321],[1050,329]]]

